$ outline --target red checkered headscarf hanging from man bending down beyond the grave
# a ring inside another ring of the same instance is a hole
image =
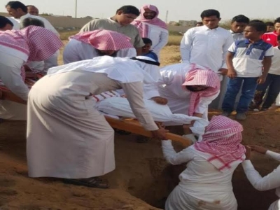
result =
[[[186,81],[183,83],[183,90],[186,89],[186,85],[205,85],[208,88],[200,92],[191,92],[190,94],[190,106],[188,108],[188,115],[193,116],[195,109],[197,109],[200,103],[201,97],[211,97],[217,94],[220,90],[220,78],[214,71],[207,69],[198,69],[195,64],[191,64],[191,69],[186,74]]]

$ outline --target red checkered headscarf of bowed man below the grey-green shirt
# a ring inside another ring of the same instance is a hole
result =
[[[78,41],[91,44],[97,50],[121,50],[133,48],[130,38],[116,31],[104,29],[81,32],[71,36]]]

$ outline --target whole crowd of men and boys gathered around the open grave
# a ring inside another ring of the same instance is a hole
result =
[[[276,101],[280,18],[265,23],[237,15],[227,30],[219,27],[218,10],[204,10],[202,22],[183,35],[182,62],[160,68],[169,32],[158,8],[122,6],[111,18],[92,20],[69,37],[64,65],[58,66],[62,41],[55,27],[38,16],[38,8],[9,1],[6,10],[13,18],[0,17],[0,118],[17,119],[18,109],[27,110],[30,177],[108,188],[99,176],[116,168],[114,130],[91,97],[119,90],[139,123],[162,140],[167,162],[188,162],[166,209],[236,210],[231,179],[240,163],[256,189],[276,188],[280,197],[280,167],[262,178],[250,161],[251,151],[278,161],[280,155],[243,146],[242,125],[228,118],[236,109],[236,119],[246,120],[248,109],[266,111]],[[31,90],[26,78],[37,80]],[[176,153],[146,100],[195,119],[183,125],[193,145]],[[196,134],[196,120],[208,121],[209,107],[223,113]],[[279,210],[280,200],[269,209]]]

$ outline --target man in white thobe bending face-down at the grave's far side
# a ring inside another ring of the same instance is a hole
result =
[[[167,105],[172,113],[207,119],[208,105],[218,96],[220,90],[217,73],[204,66],[183,63],[165,66],[160,69],[160,74],[160,96],[168,100]],[[195,87],[188,90],[184,85],[186,82],[194,83],[192,86],[200,86],[200,90]],[[211,90],[211,94],[201,94],[207,89]],[[195,92],[199,96],[194,101],[192,94]]]

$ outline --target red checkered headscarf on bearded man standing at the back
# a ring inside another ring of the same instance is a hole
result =
[[[144,17],[146,8],[148,8],[156,13],[155,18],[153,18],[152,20],[148,20]],[[148,26],[143,23],[156,25],[158,27],[161,27],[162,29],[167,29],[166,23],[163,22],[162,20],[160,20],[160,18],[158,18],[158,14],[159,14],[159,10],[156,6],[153,6],[151,4],[146,4],[146,5],[142,6],[142,8],[140,9],[140,17],[137,18],[137,20],[134,20],[134,22],[132,22],[132,25],[134,25],[135,27],[138,28],[142,37],[148,37]]]

